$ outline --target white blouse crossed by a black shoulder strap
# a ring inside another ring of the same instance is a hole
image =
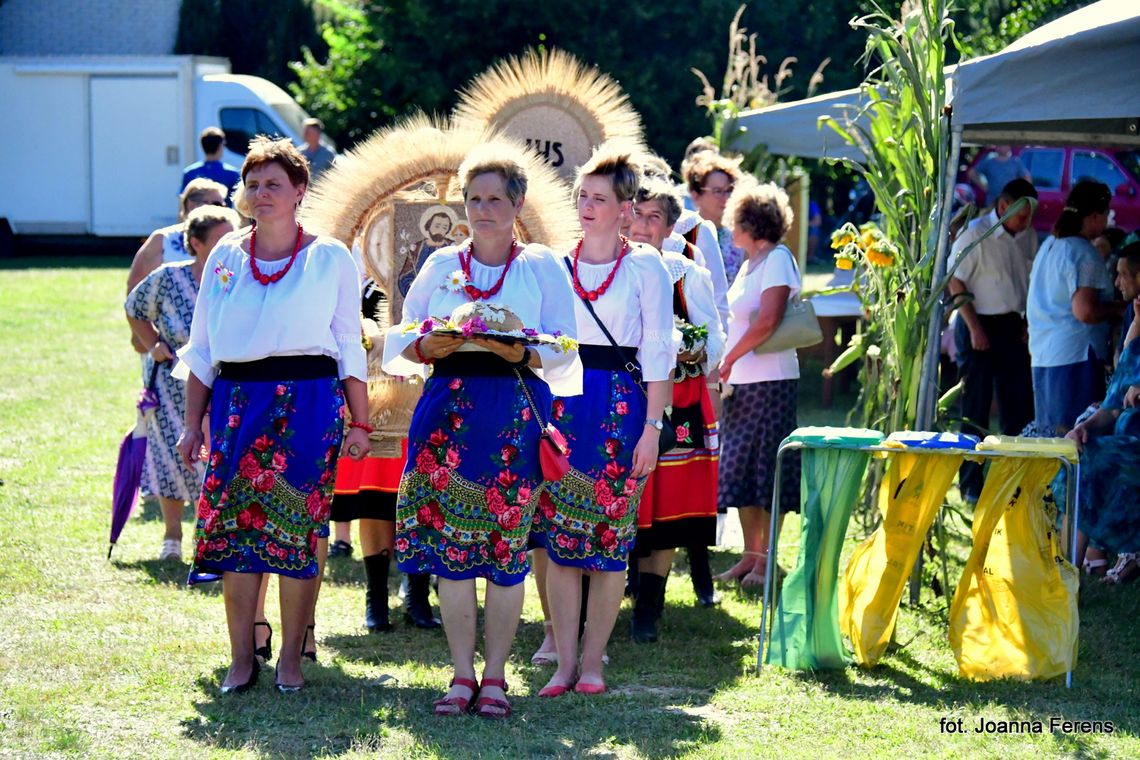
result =
[[[573,252],[560,256],[563,271],[567,261],[573,262]],[[613,262],[604,264],[578,263],[581,286],[596,289],[610,276]],[[578,342],[584,345],[604,345],[610,342],[589,316],[577,293],[571,293],[575,316],[578,319]],[[634,244],[621,261],[613,281],[605,293],[593,302],[598,319],[605,324],[618,345],[637,346],[637,362],[645,382],[673,378],[677,363],[677,344],[673,328],[673,283],[661,262],[661,254],[648,245]]]

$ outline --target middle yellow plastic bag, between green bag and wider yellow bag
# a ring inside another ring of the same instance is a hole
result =
[[[839,627],[858,664],[871,667],[886,651],[903,588],[961,464],[961,453],[890,455],[879,487],[882,524],[855,549],[839,588]]]

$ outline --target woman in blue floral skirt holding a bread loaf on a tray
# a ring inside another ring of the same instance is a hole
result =
[[[408,432],[396,553],[404,572],[440,579],[455,676],[435,702],[439,716],[462,714],[477,693],[478,714],[511,714],[505,664],[522,612],[527,539],[543,487],[538,417],[551,408],[552,391],[581,391],[581,365],[569,340],[576,334],[569,276],[548,248],[523,247],[514,237],[527,191],[521,150],[492,142],[464,161],[459,182],[472,237],[427,259],[404,302],[404,321],[389,329],[384,345],[384,371],[432,369]],[[461,312],[502,326],[521,322],[563,341],[528,348],[433,330],[434,321]],[[488,580],[479,684],[475,578]]]

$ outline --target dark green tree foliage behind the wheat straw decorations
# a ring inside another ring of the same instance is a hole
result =
[[[691,70],[719,80],[728,51],[725,31],[740,0],[617,6],[583,0],[526,8],[510,0],[318,2],[333,16],[323,30],[328,56],[301,57],[294,95],[342,144],[416,108],[447,113],[456,90],[497,59],[545,46],[617,79],[642,114],[650,145],[677,160],[690,139],[710,129],[695,103],[702,87]],[[861,81],[855,62],[863,40],[846,25],[860,5],[771,0],[746,10],[742,22],[757,33],[757,49],[769,62],[801,62],[803,76],[787,81],[785,98],[803,97],[811,72],[828,56],[836,62],[828,87]]]

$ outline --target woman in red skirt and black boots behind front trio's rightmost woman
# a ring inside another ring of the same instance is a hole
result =
[[[646,179],[637,191],[630,237],[660,251],[679,215],[681,198],[673,187]],[[716,542],[716,415],[705,381],[724,353],[724,330],[708,270],[677,253],[662,253],[662,261],[685,340],[677,352],[669,412],[677,448],[659,458],[638,510],[641,572],[630,631],[640,643],[657,640],[674,551]]]

